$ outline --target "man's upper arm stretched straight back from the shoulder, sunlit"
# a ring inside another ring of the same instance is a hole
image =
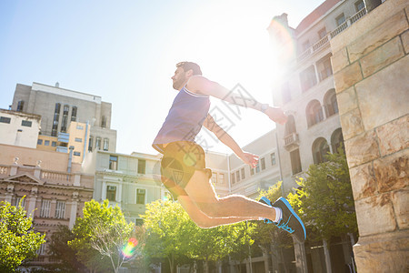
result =
[[[237,102],[234,99],[234,93],[231,90],[225,88],[224,86],[219,85],[216,82],[213,82],[204,76],[191,76],[189,81],[186,84],[186,88],[196,94],[203,94],[206,96],[214,96],[224,101],[237,105],[243,106],[240,102]],[[244,98],[246,99],[246,98]],[[263,104],[254,100],[253,97],[248,97],[248,100],[252,100],[253,103],[246,104],[247,107],[253,108],[255,110],[263,112],[265,115],[270,117],[273,121],[284,124],[287,121],[287,116],[284,115],[284,112],[281,108],[267,106],[266,109],[263,109]]]

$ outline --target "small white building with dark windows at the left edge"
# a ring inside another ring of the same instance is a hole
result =
[[[0,109],[0,144],[36,147],[41,116]]]

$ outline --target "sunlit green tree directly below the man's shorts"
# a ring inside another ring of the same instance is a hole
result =
[[[146,205],[142,216],[146,228],[144,253],[151,262],[167,259],[171,272],[186,262],[186,249],[195,224],[183,207],[173,201],[157,200]]]

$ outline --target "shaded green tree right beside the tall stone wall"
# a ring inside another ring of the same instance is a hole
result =
[[[357,231],[354,197],[349,170],[343,149],[328,154],[327,161],[311,165],[289,202],[298,210],[306,227],[314,232],[315,239],[330,240]],[[311,237],[310,237],[311,238]]]

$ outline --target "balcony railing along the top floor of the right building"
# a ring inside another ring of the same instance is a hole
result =
[[[343,24],[339,25],[337,28],[335,28],[328,35],[325,35],[321,40],[316,42],[314,45],[307,48],[303,53],[301,53],[297,57],[298,62],[304,61],[309,56],[312,56],[315,52],[317,52],[317,51],[323,49],[325,46],[329,45],[329,41],[332,38],[334,38],[334,36],[339,35],[340,33],[342,33],[346,28],[348,28],[350,25],[353,25],[356,21],[361,19],[364,15],[366,15],[366,8],[365,7],[363,9],[361,9],[360,11],[358,11],[356,14],[354,14],[351,17],[349,17],[348,19],[346,19]]]

